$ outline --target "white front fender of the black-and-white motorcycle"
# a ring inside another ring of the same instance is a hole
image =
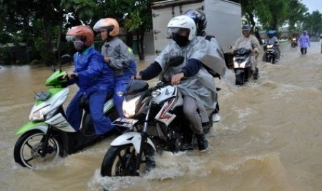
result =
[[[141,148],[141,139],[142,136],[138,132],[128,132],[118,136],[111,142],[111,146],[120,146],[132,144],[134,146],[135,152],[139,153]],[[154,144],[150,138],[147,138],[147,144],[151,145],[151,147],[156,151]]]

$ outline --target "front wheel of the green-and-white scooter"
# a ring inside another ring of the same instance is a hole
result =
[[[13,152],[15,162],[23,167],[35,169],[63,156],[62,143],[59,138],[53,136],[49,138],[47,149],[44,151],[45,136],[46,134],[39,130],[27,131],[20,136]],[[46,154],[43,155],[43,152]]]

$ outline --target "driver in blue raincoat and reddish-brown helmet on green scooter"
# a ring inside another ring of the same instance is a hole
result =
[[[78,131],[82,120],[80,100],[89,98],[89,109],[97,135],[114,128],[111,120],[104,116],[103,108],[107,93],[113,90],[114,74],[104,62],[102,55],[93,48],[94,33],[88,26],[74,26],[66,34],[66,40],[73,42],[78,51],[73,55],[75,69],[68,71],[69,84],[76,83],[79,91],[66,109],[66,118]]]

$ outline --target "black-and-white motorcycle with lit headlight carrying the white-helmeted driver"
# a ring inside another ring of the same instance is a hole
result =
[[[166,71],[183,61],[184,57],[172,57]],[[118,118],[113,123],[129,127],[129,131],[111,142],[100,174],[138,176],[155,166],[153,156],[156,151],[193,149],[193,131],[184,115],[183,103],[177,85],[172,86],[164,77],[151,88],[143,80],[132,80],[123,101],[125,118]],[[212,121],[204,125],[205,133],[211,125]]]

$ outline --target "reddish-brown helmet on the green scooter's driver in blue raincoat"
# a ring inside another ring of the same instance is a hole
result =
[[[90,46],[94,40],[93,30],[89,26],[73,26],[66,34],[68,41],[80,39],[86,46]]]

